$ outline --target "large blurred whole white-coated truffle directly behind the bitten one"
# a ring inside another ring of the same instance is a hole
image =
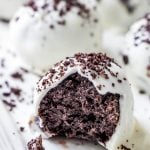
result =
[[[101,27],[97,0],[31,0],[10,25],[14,49],[37,70],[77,52],[99,50]]]

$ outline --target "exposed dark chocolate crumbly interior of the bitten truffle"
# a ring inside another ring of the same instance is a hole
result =
[[[119,94],[100,95],[92,82],[74,73],[40,102],[43,131],[66,138],[105,143],[120,118]]]

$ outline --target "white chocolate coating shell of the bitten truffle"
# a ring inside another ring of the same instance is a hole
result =
[[[80,54],[79,54],[80,55]],[[55,65],[42,79],[38,82],[37,89],[34,95],[34,102],[36,105],[36,115],[38,113],[38,108],[41,100],[47,94],[49,90],[56,87],[64,79],[73,73],[79,73],[81,76],[88,78],[89,81],[93,83],[95,88],[100,94],[106,94],[107,92],[113,94],[120,94],[120,119],[111,139],[103,145],[108,150],[116,150],[117,147],[120,147],[130,136],[132,135],[132,130],[134,126],[133,119],[133,98],[130,91],[130,86],[128,81],[125,79],[124,72],[122,68],[116,64],[112,59],[106,57],[102,54],[93,54],[94,56],[100,55],[102,61],[98,61],[96,67],[102,69],[102,72],[108,76],[105,78],[104,74],[94,71],[90,67],[86,66],[83,69],[83,66],[88,62],[88,55],[81,54],[82,56],[76,55],[74,57],[66,58],[57,65]],[[82,58],[81,58],[82,57]],[[82,61],[79,61],[78,58],[81,58]],[[93,58],[93,57],[92,57]],[[105,59],[106,58],[106,59]],[[92,59],[94,62],[94,59]],[[95,57],[96,60],[96,57]],[[68,64],[67,66],[64,64]],[[73,62],[73,63],[72,63]],[[73,64],[73,65],[72,65]],[[94,64],[92,64],[94,66]],[[65,68],[63,73],[61,68]],[[96,77],[93,78],[92,74],[96,74]],[[119,82],[121,80],[121,82]],[[112,83],[115,86],[112,86]],[[101,88],[98,88],[101,85]],[[40,120],[40,126],[42,127],[42,120]],[[48,134],[48,133],[47,133]],[[52,136],[49,135],[48,136]]]

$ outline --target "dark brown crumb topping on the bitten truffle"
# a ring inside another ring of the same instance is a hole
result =
[[[96,78],[105,78],[109,80],[111,76],[114,78],[118,78],[119,73],[112,71],[112,64],[120,67],[114,59],[107,57],[102,53],[78,53],[74,55],[74,57],[68,57],[64,61],[61,61],[55,64],[53,69],[50,69],[48,73],[44,76],[46,78],[42,78],[38,84],[37,91],[41,91],[46,89],[47,86],[53,84],[56,80],[59,80],[64,76],[65,72],[69,68],[79,67],[81,72],[86,76],[91,76],[92,79]],[[104,87],[104,85],[99,85],[100,89]]]

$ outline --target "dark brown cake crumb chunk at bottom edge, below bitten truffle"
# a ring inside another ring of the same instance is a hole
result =
[[[30,142],[28,142],[28,150],[44,150],[42,146],[42,137],[39,136],[36,139],[32,139]]]

